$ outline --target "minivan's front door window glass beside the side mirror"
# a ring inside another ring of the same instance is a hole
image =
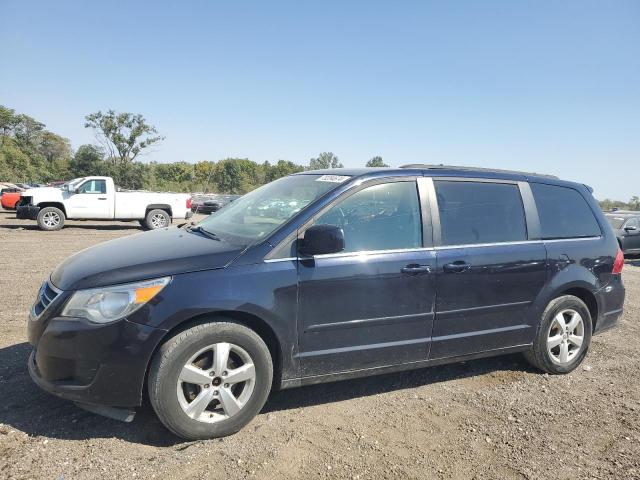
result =
[[[422,247],[416,182],[364,188],[331,207],[315,224],[342,228],[345,252]]]

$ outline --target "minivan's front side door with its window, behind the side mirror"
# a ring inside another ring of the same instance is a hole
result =
[[[298,262],[303,376],[427,358],[436,262],[424,248],[422,210],[415,179],[387,179],[307,225],[341,227],[345,251]]]

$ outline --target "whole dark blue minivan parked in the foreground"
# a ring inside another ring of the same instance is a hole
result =
[[[175,434],[219,437],[272,388],[511,352],[570,372],[622,314],[623,263],[582,184],[429,165],[309,171],[197,225],[67,259],[31,311],[29,371],[115,418],[148,391]]]

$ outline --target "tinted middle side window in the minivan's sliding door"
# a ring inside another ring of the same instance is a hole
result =
[[[434,181],[443,245],[527,239],[520,189],[508,183]]]

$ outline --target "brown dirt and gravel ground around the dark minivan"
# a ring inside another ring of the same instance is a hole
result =
[[[26,369],[27,312],[50,271],[139,231],[41,232],[0,211],[0,479],[640,478],[640,259],[625,266],[620,326],[570,375],[511,355],[287,390],[240,433],[185,443],[148,406],[130,424],[102,418]]]

